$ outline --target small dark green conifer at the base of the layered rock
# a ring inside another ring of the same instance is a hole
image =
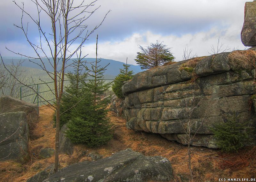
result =
[[[237,152],[250,140],[249,122],[238,122],[236,117],[225,123],[218,123],[212,128],[218,147],[223,152]]]

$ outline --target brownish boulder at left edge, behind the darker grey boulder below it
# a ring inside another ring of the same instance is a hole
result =
[[[26,113],[30,137],[32,139],[37,138],[37,136],[33,133],[33,129],[38,122],[38,106],[36,104],[28,103],[7,95],[3,95],[0,97],[0,114],[18,111],[23,111]]]

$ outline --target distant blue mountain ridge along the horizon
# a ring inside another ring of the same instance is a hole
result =
[[[53,72],[53,68],[50,65],[50,63],[48,62],[47,58],[43,58],[43,59],[44,59],[44,62],[45,62],[46,69],[50,72]],[[3,60],[4,60],[5,64],[10,64],[12,61],[14,63],[17,63],[20,60],[25,60],[24,63],[22,64],[22,66],[42,70],[42,68],[39,65],[30,62],[27,58],[3,57]],[[38,64],[41,63],[39,60],[36,60],[36,59],[31,59],[31,60],[38,63]],[[52,60],[52,58],[50,58],[50,60]],[[72,60],[75,60],[75,58],[70,59],[67,64],[71,64]],[[90,67],[89,63],[95,62],[96,59],[95,58],[84,58],[83,60],[86,60],[87,61],[86,65],[88,67]],[[101,61],[100,61],[99,64],[101,65],[101,67],[103,67],[103,66],[106,66],[108,63],[109,63],[109,65],[107,66],[107,70],[104,72],[104,76],[105,76],[106,79],[114,79],[116,77],[116,75],[119,74],[119,69],[123,68],[124,63],[120,62],[120,61],[115,61],[115,60],[112,60],[112,59],[103,59],[103,58],[101,58]],[[139,65],[132,65],[132,64],[128,64],[128,65],[130,65],[129,69],[132,70],[134,72],[134,74],[142,71],[140,69]],[[60,69],[60,65],[58,66],[58,69]],[[66,68],[66,72],[73,72],[73,68],[71,66],[68,66]]]

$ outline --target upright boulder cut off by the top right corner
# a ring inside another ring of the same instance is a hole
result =
[[[246,2],[244,7],[244,25],[241,40],[244,46],[256,46],[256,1]]]

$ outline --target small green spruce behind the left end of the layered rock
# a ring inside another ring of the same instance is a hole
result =
[[[114,80],[114,84],[112,85],[112,90],[116,94],[116,96],[120,99],[124,99],[124,95],[122,93],[122,86],[124,81],[131,80],[133,77],[133,71],[129,71],[130,65],[123,64],[124,69],[119,69],[120,73],[116,76]]]

